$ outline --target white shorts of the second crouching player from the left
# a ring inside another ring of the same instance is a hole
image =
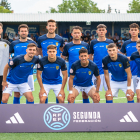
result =
[[[52,89],[54,91],[54,93],[55,93],[55,96],[57,97],[59,92],[60,92],[60,90],[61,90],[62,84],[57,84],[57,85],[43,84],[43,86],[44,86],[44,89],[45,89],[45,91],[47,93],[47,95],[44,93],[43,96],[48,96],[50,90]],[[61,96],[61,94],[59,96]]]

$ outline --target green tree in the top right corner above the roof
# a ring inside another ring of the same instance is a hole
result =
[[[127,13],[140,13],[140,0],[133,0],[130,2]]]

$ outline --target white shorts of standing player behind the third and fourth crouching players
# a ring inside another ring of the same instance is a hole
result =
[[[105,76],[104,76],[104,74],[101,74],[101,75],[100,75],[100,78],[101,78],[101,84],[100,84],[99,91],[102,91],[102,90],[103,90],[103,87],[104,87],[104,90],[107,91],[108,88],[107,88],[107,84],[106,84],[106,81],[105,81]],[[109,73],[109,78],[110,78],[110,80],[111,80],[111,73]],[[93,82],[93,84],[94,84],[95,87],[96,87],[97,79],[96,79],[95,76],[93,76],[92,82]]]

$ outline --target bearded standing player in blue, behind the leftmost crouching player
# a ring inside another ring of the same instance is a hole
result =
[[[29,34],[29,27],[26,24],[21,24],[18,27],[18,34],[20,35],[19,40],[15,40],[11,43],[10,45],[10,54],[14,53],[14,57],[21,55],[21,54],[26,54],[26,49],[27,45],[29,43],[34,43],[34,41],[29,40],[28,34]],[[28,77],[28,84],[31,88],[32,91],[34,91],[34,79],[33,79],[33,72],[31,71],[31,74]],[[20,104],[20,93],[19,90],[16,88],[14,89],[14,104]]]

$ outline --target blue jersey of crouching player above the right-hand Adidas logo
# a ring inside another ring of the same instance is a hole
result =
[[[125,69],[130,67],[130,63],[126,56],[118,54],[117,60],[113,61],[108,55],[103,58],[102,62],[103,69],[111,72],[111,80],[117,82],[127,81],[127,73],[125,72]]]

